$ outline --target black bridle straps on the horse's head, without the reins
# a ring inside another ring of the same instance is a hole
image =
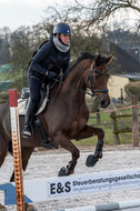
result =
[[[93,68],[93,61],[91,63],[91,68],[90,68],[90,73],[89,73],[89,80],[90,80],[90,84],[91,84],[91,92],[93,96],[97,94],[97,92],[102,92],[102,93],[108,93],[109,90],[108,89],[94,89],[94,79],[93,79],[93,73],[99,72],[102,76],[107,76],[108,73],[106,72],[101,72],[100,70],[97,70]]]

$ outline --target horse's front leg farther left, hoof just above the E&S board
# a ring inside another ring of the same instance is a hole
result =
[[[76,148],[76,145],[70,141],[70,139],[62,133],[62,131],[58,131],[54,133],[53,141],[63,149],[68,150],[72,155],[72,160],[69,162],[69,164],[66,168],[64,167],[61,168],[58,175],[62,177],[62,175],[72,174],[74,172],[77,160],[80,157],[78,148]]]

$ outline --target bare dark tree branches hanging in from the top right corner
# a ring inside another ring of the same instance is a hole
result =
[[[79,0],[76,0],[76,2],[77,10],[88,12],[87,26],[99,24],[100,22],[107,23],[109,18],[116,16],[118,11],[128,13],[133,10],[140,13],[139,0],[98,0],[89,3],[89,6],[82,6]]]

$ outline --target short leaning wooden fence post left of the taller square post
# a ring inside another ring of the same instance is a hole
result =
[[[112,127],[113,127],[113,135],[114,135],[114,143],[116,144],[120,144],[120,137],[118,133],[118,123],[117,123],[117,117],[116,117],[116,112],[111,112],[110,118],[112,118]]]

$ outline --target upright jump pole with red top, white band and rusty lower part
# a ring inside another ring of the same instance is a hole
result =
[[[13,151],[13,162],[14,162],[17,211],[24,211],[18,97],[16,89],[9,90],[9,101],[10,101],[10,118],[11,118],[11,133],[12,133],[12,151]]]

